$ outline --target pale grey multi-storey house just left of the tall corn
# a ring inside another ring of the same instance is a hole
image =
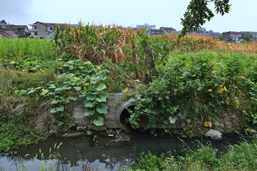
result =
[[[29,30],[32,38],[52,38],[56,27],[54,23],[42,23],[39,21],[29,24],[29,26],[32,26]]]

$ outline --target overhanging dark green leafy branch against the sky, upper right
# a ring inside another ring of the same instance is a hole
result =
[[[178,38],[185,36],[188,32],[197,31],[206,23],[206,19],[210,21],[211,18],[213,18],[213,11],[208,8],[209,4],[212,2],[214,2],[217,14],[223,16],[225,13],[228,13],[231,6],[228,4],[229,0],[191,0],[183,15],[184,18],[181,19],[183,28]]]

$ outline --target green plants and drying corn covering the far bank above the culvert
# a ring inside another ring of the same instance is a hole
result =
[[[72,100],[83,100],[84,115],[98,130],[109,93],[121,91],[138,100],[128,120],[133,128],[142,118],[153,129],[195,121],[198,127],[206,121],[216,126],[222,115],[233,116],[237,130],[256,128],[256,43],[228,44],[227,50],[204,36],[175,40],[176,35],[88,25],[57,28],[54,40],[1,39],[0,136],[10,137],[1,139],[0,151],[76,126]],[[38,118],[52,122],[44,133],[34,129]]]

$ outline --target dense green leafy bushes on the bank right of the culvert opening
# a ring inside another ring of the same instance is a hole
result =
[[[184,126],[198,118],[218,124],[219,115],[229,110],[245,113],[256,125],[257,86],[245,58],[238,53],[173,53],[161,77],[138,85],[139,104],[130,123],[138,127],[138,118],[143,117],[151,120],[153,128]]]

